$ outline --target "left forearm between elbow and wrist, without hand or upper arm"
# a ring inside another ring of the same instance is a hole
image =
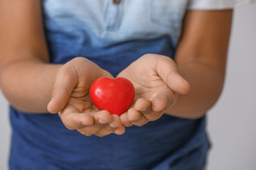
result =
[[[9,103],[27,113],[47,113],[55,75],[61,65],[24,59],[2,67],[0,86]]]

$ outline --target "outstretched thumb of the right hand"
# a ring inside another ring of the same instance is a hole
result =
[[[176,63],[171,58],[165,56],[159,57],[156,71],[167,86],[177,94],[187,94],[190,90],[188,81],[181,77]]]

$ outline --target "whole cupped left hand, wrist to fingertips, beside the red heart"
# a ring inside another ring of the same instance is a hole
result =
[[[124,127],[119,116],[99,111],[90,100],[90,85],[99,77],[112,75],[83,57],[70,60],[56,75],[48,111],[58,113],[66,128],[83,135],[121,135]]]

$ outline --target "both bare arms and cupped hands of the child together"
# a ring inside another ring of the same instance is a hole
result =
[[[200,118],[222,90],[232,10],[187,11],[175,61],[148,54],[124,69],[119,77],[132,81],[137,97],[121,117],[97,110],[88,96],[92,81],[112,78],[109,72],[82,57],[49,63],[41,1],[0,0],[0,11],[0,86],[6,98],[24,112],[59,113],[68,129],[83,135],[121,135],[124,126],[144,125],[164,112]]]

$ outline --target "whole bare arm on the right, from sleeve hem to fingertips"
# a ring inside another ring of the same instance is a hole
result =
[[[119,77],[132,81],[136,98],[122,123],[144,125],[164,113],[203,116],[223,88],[231,20],[232,10],[188,11],[175,62],[148,54],[124,69]]]

